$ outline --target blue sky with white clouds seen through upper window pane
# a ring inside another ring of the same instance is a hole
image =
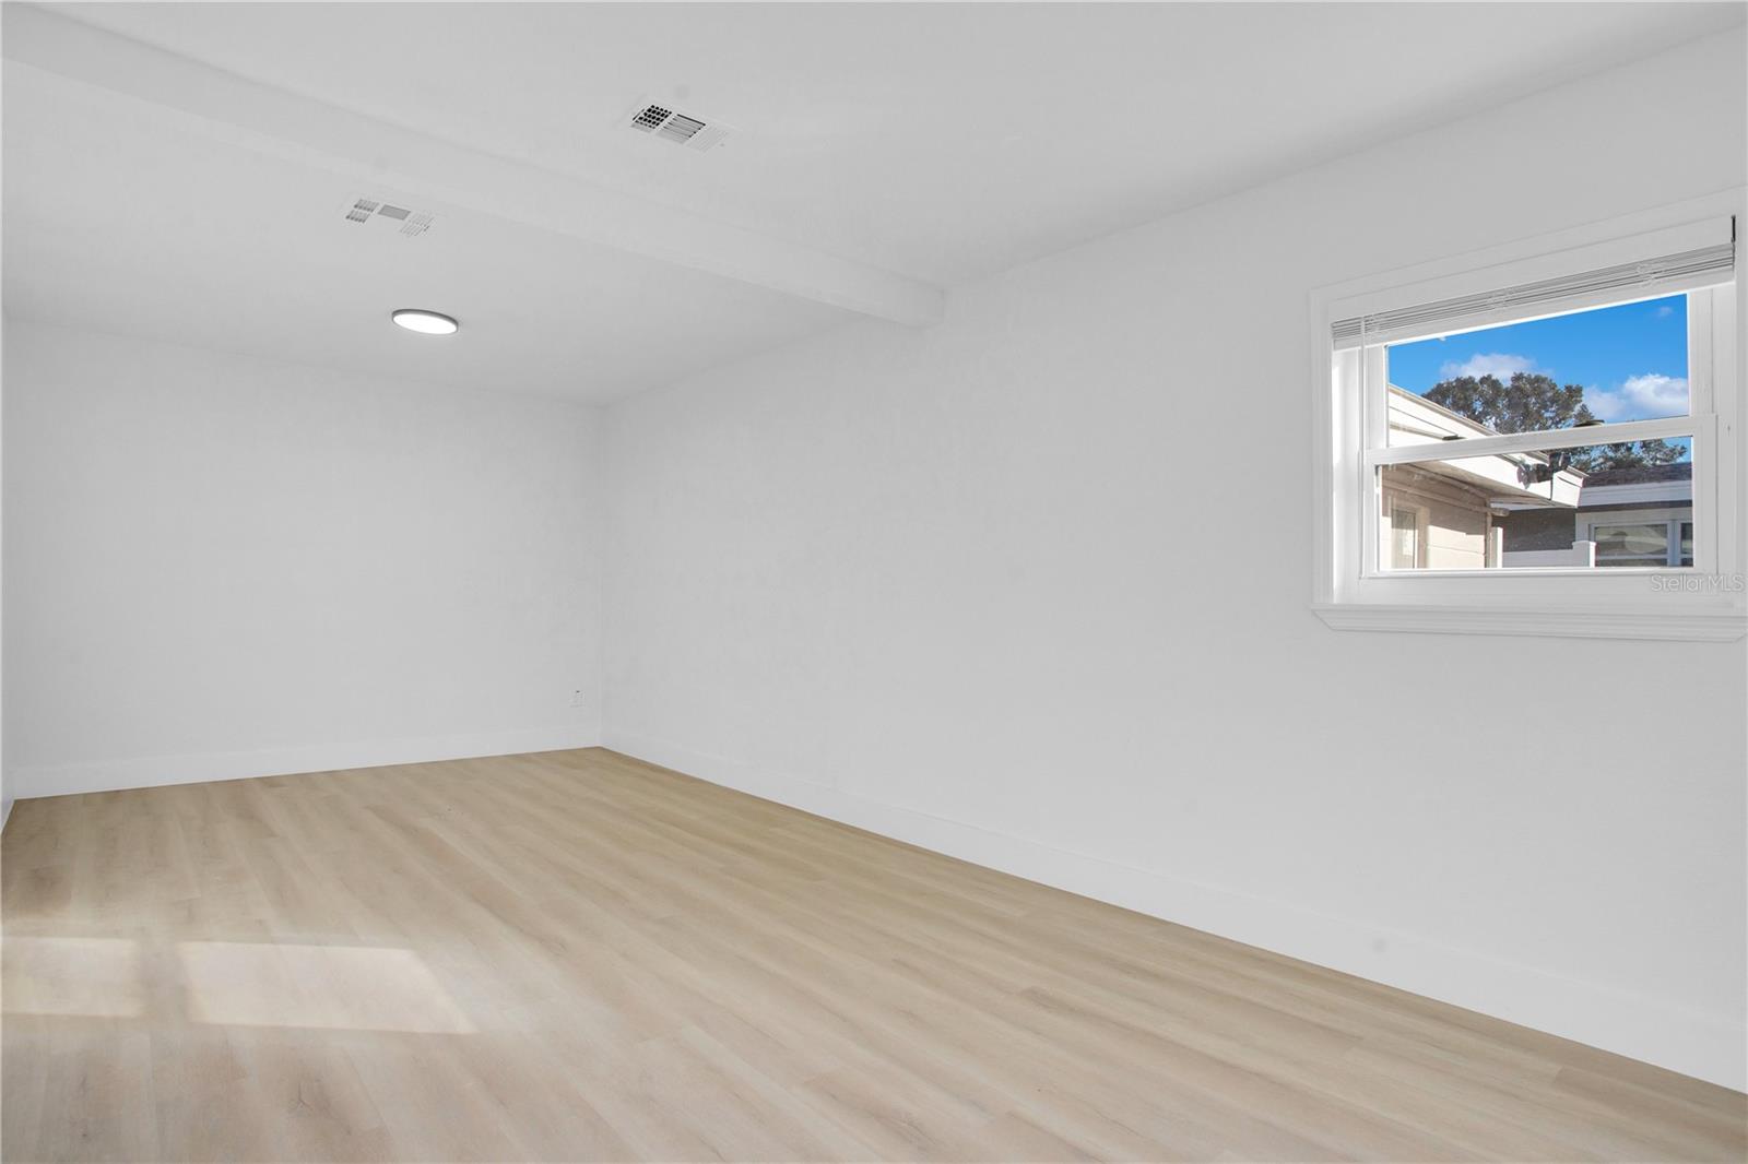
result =
[[[1390,383],[1425,393],[1440,379],[1542,372],[1584,385],[1599,419],[1687,414],[1687,295],[1509,323],[1390,348]]]

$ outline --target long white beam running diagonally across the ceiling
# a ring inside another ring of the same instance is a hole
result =
[[[907,325],[940,320],[930,283],[444,142],[266,86],[35,5],[5,14],[5,56],[157,107],[194,133],[427,201]]]

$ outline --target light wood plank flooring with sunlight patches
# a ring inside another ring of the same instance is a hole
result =
[[[1748,1098],[601,750],[24,800],[7,1161],[1741,1161]]]

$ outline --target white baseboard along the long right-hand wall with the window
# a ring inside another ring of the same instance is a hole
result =
[[[1308,911],[1038,841],[869,800],[808,779],[755,771],[661,739],[607,729],[601,743],[727,788],[857,828],[1260,946],[1736,1091],[1748,1089],[1748,1029],[1704,1014],[1421,935]]]

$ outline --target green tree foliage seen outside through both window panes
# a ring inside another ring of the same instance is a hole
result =
[[[1584,385],[1561,386],[1540,372],[1512,372],[1509,385],[1500,383],[1498,376],[1456,376],[1428,388],[1426,398],[1493,432],[1538,432],[1598,423],[1584,404]],[[1671,465],[1685,456],[1687,449],[1680,444],[1655,439],[1561,449],[1549,460],[1556,470],[1570,467],[1594,472]]]

